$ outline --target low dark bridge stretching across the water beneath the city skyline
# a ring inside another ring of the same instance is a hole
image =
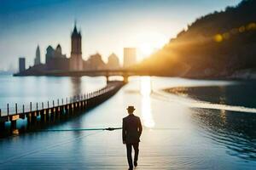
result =
[[[106,77],[109,82],[109,77],[120,76],[124,77],[124,82],[128,82],[128,77],[131,76],[151,76],[149,71],[134,71],[128,69],[118,70],[88,70],[88,71],[24,71],[17,73],[14,76],[53,76],[53,77]]]

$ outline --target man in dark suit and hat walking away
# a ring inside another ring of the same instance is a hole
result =
[[[140,118],[138,116],[133,115],[133,111],[135,111],[134,106],[128,106],[127,111],[129,116],[123,118],[123,144],[126,144],[129,169],[133,169],[131,158],[131,146],[135,151],[134,166],[137,167],[137,156],[139,151],[138,146],[140,142],[140,136],[143,132],[143,127]]]

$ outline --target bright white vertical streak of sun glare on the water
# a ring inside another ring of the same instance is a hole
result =
[[[154,118],[151,111],[151,79],[150,77],[141,77],[140,93],[142,95],[142,116],[143,125],[148,128],[154,127]]]

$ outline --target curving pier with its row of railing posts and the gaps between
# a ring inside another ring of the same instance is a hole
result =
[[[123,85],[124,82],[113,81],[108,82],[106,87],[89,94],[41,103],[30,102],[29,105],[15,104],[15,107],[7,105],[5,111],[0,110],[0,130],[4,128],[5,122],[11,122],[11,127],[15,127],[18,119],[27,119],[28,123],[32,123],[38,121],[38,116],[41,116],[40,121],[44,121],[50,118],[61,118],[74,111],[85,111],[109,99]]]

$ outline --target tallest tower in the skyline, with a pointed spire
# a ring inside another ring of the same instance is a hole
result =
[[[82,37],[81,32],[77,30],[77,26],[73,28],[71,35],[71,54],[70,54],[70,71],[82,71]]]

